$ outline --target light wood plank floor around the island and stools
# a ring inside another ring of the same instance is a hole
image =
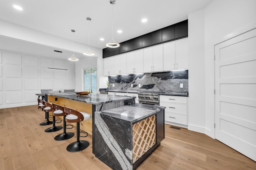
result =
[[[76,140],[56,141],[62,133],[46,133],[52,125],[39,126],[44,112],[37,105],[0,109],[0,170],[107,170],[92,154],[92,136],[82,138],[90,146],[70,153],[66,146]],[[62,123],[60,123],[62,125]],[[165,139],[138,170],[256,169],[256,162],[205,134],[165,126]],[[76,132],[76,128],[67,130]]]

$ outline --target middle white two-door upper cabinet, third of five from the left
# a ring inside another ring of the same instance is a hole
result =
[[[143,49],[127,53],[127,73],[143,72]]]

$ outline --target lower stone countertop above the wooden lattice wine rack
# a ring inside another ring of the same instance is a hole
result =
[[[124,105],[113,109],[103,110],[101,113],[106,116],[115,117],[125,121],[135,123],[146,117],[154,115],[160,110],[165,109],[163,106],[138,104],[135,105]]]

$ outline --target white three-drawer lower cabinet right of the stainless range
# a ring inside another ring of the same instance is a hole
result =
[[[167,124],[187,127],[187,97],[160,95],[160,106],[166,107]]]

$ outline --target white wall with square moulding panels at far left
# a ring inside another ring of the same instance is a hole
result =
[[[69,71],[46,69],[54,67]],[[0,50],[0,109],[36,105],[40,89],[74,89],[74,63]]]

